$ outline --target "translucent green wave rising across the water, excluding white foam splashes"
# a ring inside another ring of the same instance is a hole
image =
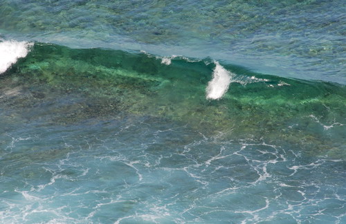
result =
[[[170,62],[138,52],[35,43],[1,75],[0,103],[12,111],[8,119],[26,110],[20,119],[62,125],[149,116],[227,138],[284,140],[345,155],[345,86],[221,63],[234,74],[232,82],[224,97],[207,100],[212,59]]]

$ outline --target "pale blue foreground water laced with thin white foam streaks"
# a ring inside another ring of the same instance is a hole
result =
[[[345,222],[345,161],[280,141],[151,118],[26,130],[0,139],[3,223]]]

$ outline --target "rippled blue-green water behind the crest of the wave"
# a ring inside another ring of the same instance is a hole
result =
[[[0,37],[212,57],[346,84],[345,1],[0,1]]]

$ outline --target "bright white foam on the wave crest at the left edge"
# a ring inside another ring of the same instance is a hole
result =
[[[21,57],[26,57],[33,43],[26,41],[0,42],[0,74],[4,73],[12,64]]]

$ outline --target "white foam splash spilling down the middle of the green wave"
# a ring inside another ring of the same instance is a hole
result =
[[[228,90],[232,77],[232,73],[227,71],[219,62],[215,62],[215,69],[212,73],[212,80],[208,82],[206,88],[207,99],[218,100],[220,99]]]

